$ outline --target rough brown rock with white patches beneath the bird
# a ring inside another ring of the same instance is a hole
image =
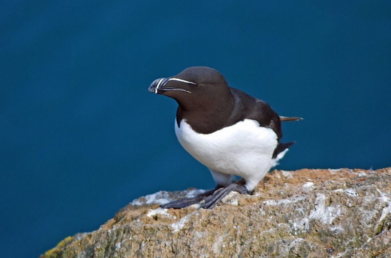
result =
[[[212,210],[158,208],[197,193],[140,197],[41,257],[391,257],[391,168],[275,170]]]

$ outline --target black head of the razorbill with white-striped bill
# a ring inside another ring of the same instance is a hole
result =
[[[148,90],[173,98],[184,110],[211,109],[232,97],[224,77],[205,66],[189,67],[175,76],[156,79]]]

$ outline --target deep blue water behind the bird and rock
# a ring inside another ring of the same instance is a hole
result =
[[[285,116],[278,169],[391,166],[390,1],[0,3],[0,254],[38,257],[132,199],[212,188],[150,83],[188,66]]]

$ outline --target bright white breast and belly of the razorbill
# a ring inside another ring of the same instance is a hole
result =
[[[243,177],[250,191],[276,165],[272,155],[277,135],[255,120],[245,119],[210,134],[197,133],[182,120],[179,128],[175,122],[175,133],[195,159],[211,170]]]

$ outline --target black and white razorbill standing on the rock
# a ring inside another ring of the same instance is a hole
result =
[[[176,137],[210,170],[216,182],[215,189],[162,204],[162,208],[200,203],[200,208],[212,209],[232,191],[252,194],[295,143],[280,142],[281,122],[302,119],[279,116],[266,102],[228,86],[220,72],[206,66],[189,67],[175,76],[156,79],[148,91],[177,102]],[[235,176],[245,183],[234,181]]]

